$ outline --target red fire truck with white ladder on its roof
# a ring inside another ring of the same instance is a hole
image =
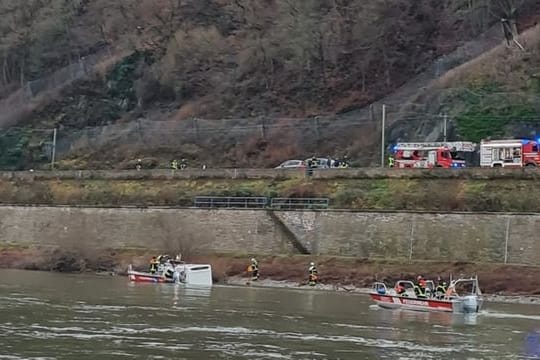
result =
[[[471,142],[419,142],[398,143],[393,147],[396,168],[462,168],[465,160],[452,154],[474,152],[476,144]]]

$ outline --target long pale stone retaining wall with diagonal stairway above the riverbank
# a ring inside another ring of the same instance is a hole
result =
[[[296,254],[298,241],[313,255],[540,265],[538,229],[540,215],[0,208],[0,245],[62,249],[75,258],[105,249]]]

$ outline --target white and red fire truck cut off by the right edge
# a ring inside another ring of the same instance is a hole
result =
[[[540,151],[533,140],[482,140],[480,166],[523,167],[540,165]]]

